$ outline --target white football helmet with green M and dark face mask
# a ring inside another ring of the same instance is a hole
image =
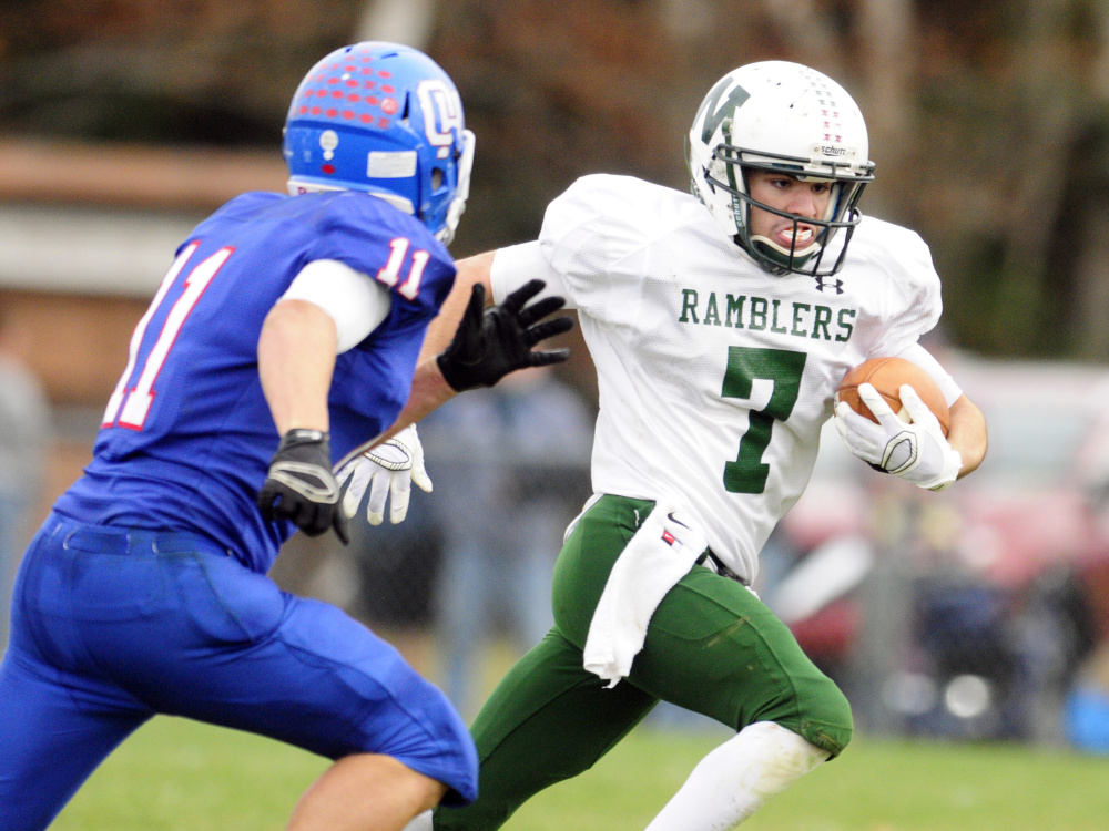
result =
[[[724,75],[701,102],[686,141],[693,194],[729,237],[777,275],[824,277],[843,267],[859,222],[855,205],[874,181],[867,152],[866,124],[851,95],[816,70],[786,61],[751,63]],[[811,219],[752,199],[749,170],[832,183],[827,214]],[[793,219],[791,248],[751,236],[751,205]],[[798,223],[817,228],[803,249]],[[830,250],[841,228],[841,245]]]

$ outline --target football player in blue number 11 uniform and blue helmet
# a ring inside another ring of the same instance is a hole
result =
[[[478,290],[414,382],[455,279],[446,245],[474,158],[458,93],[427,55],[372,42],[324,58],[293,98],[284,153],[289,196],[232,199],[177,249],[93,460],[23,557],[0,665],[0,831],[45,828],[155,714],[336,760],[289,829],[399,829],[476,796],[446,697],[266,572],[297,529],[345,542],[367,483],[385,483],[370,514],[391,486],[403,519],[418,443],[375,443],[410,392],[424,411],[563,360],[531,347],[570,322],[542,320],[560,301],[525,308],[541,283],[488,310]]]

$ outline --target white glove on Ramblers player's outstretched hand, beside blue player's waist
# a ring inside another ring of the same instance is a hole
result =
[[[396,525],[405,521],[413,482],[426,493],[431,492],[431,480],[424,469],[424,448],[415,424],[352,459],[338,470],[335,479],[340,488],[349,482],[343,496],[343,512],[348,517],[358,513],[362,496],[369,488],[366,520],[370,525],[381,524],[385,502],[390,494],[389,522]]]

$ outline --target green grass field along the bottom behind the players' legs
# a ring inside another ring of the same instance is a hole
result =
[[[506,828],[641,831],[720,738],[640,728],[593,770],[536,797]],[[325,766],[266,739],[157,718],[96,771],[52,828],[277,831]],[[744,831],[1106,828],[1109,758],[864,737],[769,804]]]

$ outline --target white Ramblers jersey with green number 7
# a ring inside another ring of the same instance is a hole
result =
[[[910,230],[866,218],[835,277],[776,277],[695,197],[624,176],[554,199],[538,246],[497,254],[495,297],[532,277],[578,309],[597,367],[594,492],[684,505],[747,579],[808,483],[840,379],[910,349],[942,309]]]

